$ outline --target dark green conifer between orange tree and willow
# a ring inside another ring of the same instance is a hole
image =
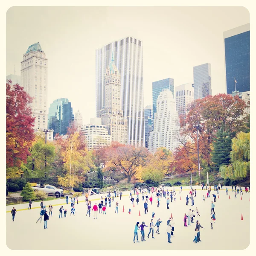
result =
[[[212,144],[212,162],[215,166],[219,169],[222,165],[229,165],[231,152],[230,133],[219,129]]]

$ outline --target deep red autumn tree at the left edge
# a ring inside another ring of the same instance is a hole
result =
[[[18,177],[23,173],[21,164],[26,163],[29,149],[35,138],[32,98],[18,84],[6,83],[6,177]]]

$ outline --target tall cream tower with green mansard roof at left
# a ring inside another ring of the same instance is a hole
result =
[[[34,130],[47,129],[47,67],[48,60],[39,43],[32,44],[23,55],[20,85],[32,98]]]

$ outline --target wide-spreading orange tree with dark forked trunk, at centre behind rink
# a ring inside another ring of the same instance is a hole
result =
[[[149,153],[146,148],[135,148],[132,145],[109,147],[107,151],[108,163],[105,169],[122,170],[127,175],[128,182],[135,175],[140,166],[145,166]]]

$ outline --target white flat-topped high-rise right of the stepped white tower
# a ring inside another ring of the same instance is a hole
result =
[[[176,110],[179,115],[188,113],[189,105],[194,101],[194,87],[192,83],[175,87]]]

